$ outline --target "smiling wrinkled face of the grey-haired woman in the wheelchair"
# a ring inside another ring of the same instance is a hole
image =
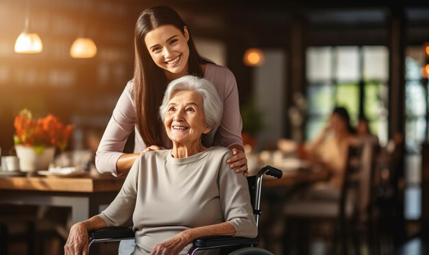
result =
[[[199,138],[210,131],[204,120],[201,96],[191,90],[174,93],[167,105],[164,125],[171,141],[184,146],[201,145]]]

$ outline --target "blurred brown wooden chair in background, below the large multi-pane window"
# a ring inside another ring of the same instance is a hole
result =
[[[364,156],[366,156],[365,161]],[[355,254],[360,254],[357,224],[363,217],[363,213],[367,212],[369,205],[371,185],[365,182],[371,182],[372,158],[371,145],[364,143],[350,145],[343,186],[338,190],[338,195],[332,195],[330,198],[297,199],[284,206],[284,254],[291,251],[293,243],[300,245],[299,254],[308,254],[309,227],[321,222],[330,222],[334,226],[332,242],[334,251],[330,254],[336,252],[339,239],[341,239],[341,254],[347,254],[349,238],[353,241]],[[299,239],[298,242],[293,242],[294,237]]]

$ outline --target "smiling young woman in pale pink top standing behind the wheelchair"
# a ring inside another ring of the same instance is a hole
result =
[[[238,90],[232,72],[199,56],[189,28],[167,6],[148,8],[140,14],[134,45],[134,78],[123,90],[101,138],[95,156],[98,171],[120,175],[130,170],[142,152],[172,147],[159,121],[158,107],[167,84],[191,74],[215,85],[224,113],[214,145],[231,149],[233,156],[227,160],[230,168],[247,175]],[[133,129],[134,153],[124,154],[123,148]]]

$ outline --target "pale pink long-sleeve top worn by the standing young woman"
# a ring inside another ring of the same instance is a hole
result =
[[[221,125],[215,134],[216,146],[230,147],[232,145],[243,146],[238,89],[234,74],[225,66],[207,64],[204,78],[212,82],[223,101],[223,117]],[[115,106],[112,117],[101,138],[101,142],[95,155],[95,165],[100,173],[112,173],[117,176],[116,164],[122,156],[123,148],[133,129],[135,129],[134,152],[143,151],[146,148],[145,141],[138,132],[136,125],[136,107],[133,99],[134,84],[127,83],[121,97]],[[163,137],[163,147],[170,149],[171,141],[167,134]]]

